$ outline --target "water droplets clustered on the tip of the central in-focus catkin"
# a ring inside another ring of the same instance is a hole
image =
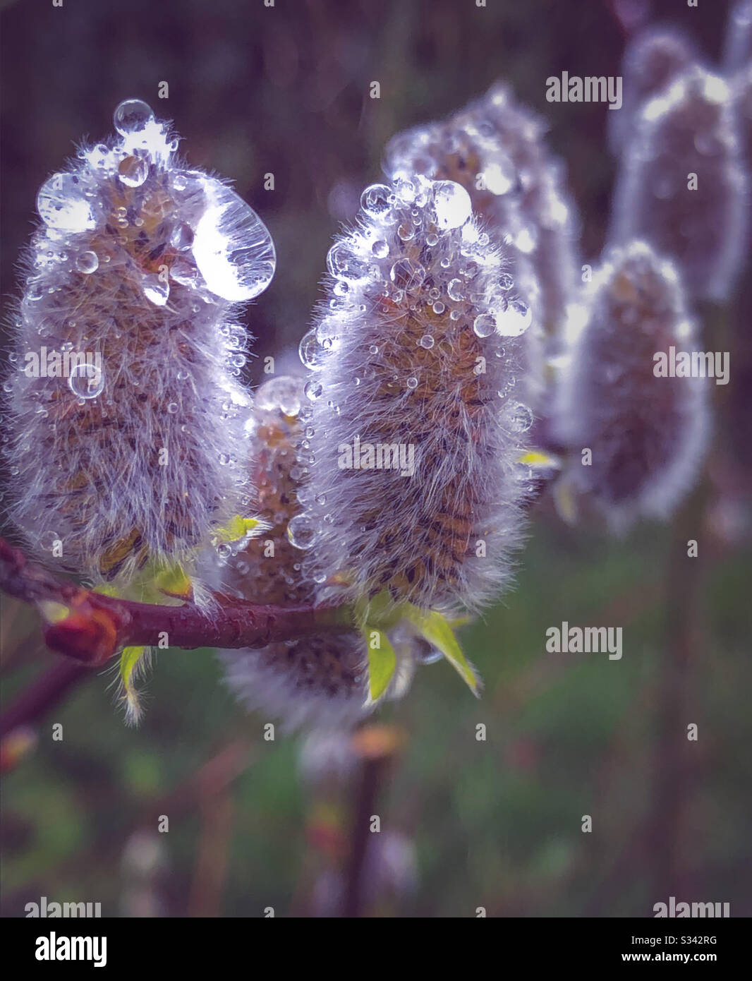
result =
[[[357,228],[329,249],[330,295],[323,316],[300,342],[300,358],[317,373],[336,356],[354,323],[376,314],[386,321],[410,315],[426,323],[419,345],[472,330],[482,338],[519,337],[532,313],[514,290],[512,277],[488,268],[498,256],[487,232],[472,220],[472,202],[456,181],[400,176],[372,184],[361,196]],[[371,353],[377,355],[377,345]],[[353,385],[361,379],[355,377]],[[407,390],[418,387],[406,377]],[[316,401],[324,386],[312,376],[306,395]]]

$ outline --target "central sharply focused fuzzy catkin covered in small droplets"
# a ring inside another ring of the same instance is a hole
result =
[[[327,269],[301,343],[311,472],[292,541],[345,595],[476,608],[508,581],[521,537],[530,310],[454,181],[366,188]]]

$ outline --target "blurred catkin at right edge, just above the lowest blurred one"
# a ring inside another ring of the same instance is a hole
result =
[[[649,241],[693,297],[723,300],[746,248],[748,181],[727,82],[693,66],[642,109],[610,241]]]

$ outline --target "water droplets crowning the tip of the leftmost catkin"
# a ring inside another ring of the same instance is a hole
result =
[[[40,265],[70,263],[91,276],[121,247],[156,306],[169,302],[173,284],[230,303],[261,293],[276,254],[256,212],[222,181],[177,166],[178,140],[145,102],[122,102],[114,124],[119,139],[80,151],[71,171],[39,189]]]

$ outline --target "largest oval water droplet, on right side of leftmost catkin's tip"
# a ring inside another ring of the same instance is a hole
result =
[[[272,281],[275,244],[256,212],[220,181],[205,181],[207,208],[193,255],[207,286],[231,302],[253,299]]]

